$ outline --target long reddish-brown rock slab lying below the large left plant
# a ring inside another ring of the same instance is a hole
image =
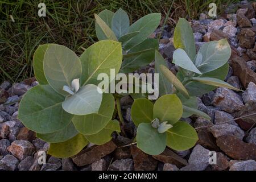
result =
[[[73,162],[77,166],[85,166],[100,160],[104,156],[110,154],[117,148],[112,140],[108,143],[102,144],[101,146],[92,146],[85,148],[79,154],[72,157]]]

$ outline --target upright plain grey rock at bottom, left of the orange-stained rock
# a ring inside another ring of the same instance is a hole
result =
[[[209,166],[209,150],[197,144],[189,156],[188,164],[195,165],[196,171],[203,171]]]

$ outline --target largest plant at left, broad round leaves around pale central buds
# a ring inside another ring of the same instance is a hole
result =
[[[98,92],[97,76],[118,73],[122,64],[121,43],[102,40],[80,57],[71,49],[44,44],[34,54],[39,82],[23,97],[18,118],[38,138],[50,143],[48,154],[59,158],[76,155],[89,142],[104,144],[120,132],[112,120],[114,97]]]

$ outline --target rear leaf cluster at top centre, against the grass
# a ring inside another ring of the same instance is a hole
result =
[[[122,43],[123,62],[121,73],[130,73],[154,60],[158,49],[158,39],[148,38],[158,27],[161,19],[159,13],[143,16],[131,24],[125,11],[115,13],[109,10],[95,14],[96,34],[99,40],[115,40]]]

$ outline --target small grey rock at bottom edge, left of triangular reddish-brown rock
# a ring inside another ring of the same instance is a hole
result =
[[[109,171],[133,171],[133,159],[115,160],[109,167]]]

